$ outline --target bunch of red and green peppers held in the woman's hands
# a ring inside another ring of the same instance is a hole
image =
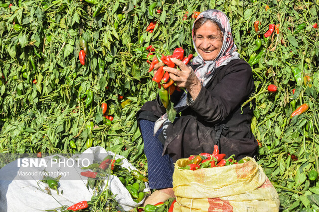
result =
[[[156,58],[152,61],[150,65],[150,71],[152,71],[156,64],[162,62],[164,65],[175,68],[175,64],[170,60],[170,58],[176,58],[182,61],[185,65],[193,58],[193,55],[188,55],[188,57],[184,57],[183,48],[176,48],[172,55],[164,56],[162,54],[157,53]],[[174,85],[174,80],[169,78],[169,72],[165,72],[163,70],[164,66],[161,66],[156,73],[154,74],[153,81],[157,82],[159,85],[159,96],[160,100],[165,108],[169,105],[169,95],[171,95],[176,88]]]

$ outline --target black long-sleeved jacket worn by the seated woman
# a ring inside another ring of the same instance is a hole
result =
[[[233,60],[216,69],[196,99],[168,126],[163,154],[169,154],[175,162],[201,152],[212,153],[218,144],[219,152],[226,157],[254,156],[258,144],[251,132],[250,105],[241,112],[241,105],[254,90],[251,67],[244,60]],[[178,92],[172,95],[173,102],[174,98],[179,98]],[[165,108],[154,100],[145,103],[137,117],[156,121],[164,113]]]

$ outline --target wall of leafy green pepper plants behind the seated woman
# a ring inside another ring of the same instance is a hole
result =
[[[256,102],[259,163],[281,208],[319,211],[318,179],[309,176],[319,171],[318,0],[0,3],[1,153],[82,152],[100,145],[147,172],[135,119],[157,92],[146,47],[194,54],[195,12],[216,8],[229,17],[241,58],[251,59],[256,93],[245,104]],[[274,31],[264,39],[270,24]],[[304,103],[309,109],[290,118]]]

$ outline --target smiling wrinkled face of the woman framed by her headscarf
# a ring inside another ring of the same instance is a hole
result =
[[[217,26],[206,21],[196,30],[195,46],[204,61],[213,61],[223,46],[223,37]]]

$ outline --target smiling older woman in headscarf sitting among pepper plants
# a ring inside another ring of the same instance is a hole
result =
[[[145,204],[174,197],[173,162],[179,158],[212,153],[215,144],[226,157],[235,154],[236,159],[258,152],[250,128],[252,110],[246,105],[241,111],[255,89],[251,67],[239,59],[227,16],[215,9],[200,13],[192,39],[198,56],[190,66],[171,58],[180,70],[164,68],[177,86],[187,90],[187,94],[175,91],[171,96],[181,116],[173,123],[167,121],[159,99],[147,102],[138,113],[150,187],[158,189]]]

